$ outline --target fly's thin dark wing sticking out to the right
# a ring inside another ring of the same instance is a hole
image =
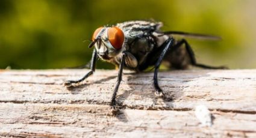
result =
[[[202,39],[202,40],[222,40],[219,36],[214,35],[207,35],[207,34],[196,34],[196,33],[190,33],[190,32],[181,32],[181,31],[167,31],[160,33],[161,35],[178,35],[181,37],[190,37],[190,38],[196,38],[196,39]]]

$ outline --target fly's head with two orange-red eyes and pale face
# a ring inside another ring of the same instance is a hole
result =
[[[92,36],[89,47],[95,46],[99,58],[109,61],[122,50],[125,35],[122,29],[113,27],[100,27]]]

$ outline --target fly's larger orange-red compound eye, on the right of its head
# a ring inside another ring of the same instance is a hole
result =
[[[115,49],[121,49],[125,35],[121,29],[112,27],[108,29],[108,40]]]

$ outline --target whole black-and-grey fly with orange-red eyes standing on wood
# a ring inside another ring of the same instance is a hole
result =
[[[89,47],[94,47],[90,71],[79,80],[68,80],[64,85],[69,87],[82,82],[95,72],[96,59],[110,62],[119,67],[117,82],[114,86],[110,106],[117,110],[116,94],[122,80],[123,68],[143,71],[154,66],[154,88],[157,97],[163,97],[163,90],[158,85],[158,70],[162,61],[169,67],[184,69],[189,65],[201,68],[219,69],[196,62],[195,55],[185,39],[176,40],[173,35],[219,40],[220,37],[203,34],[193,34],[180,31],[161,31],[161,22],[129,21],[113,26],[102,26],[95,30]]]

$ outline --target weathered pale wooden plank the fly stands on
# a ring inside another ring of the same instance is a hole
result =
[[[87,71],[0,70],[0,137],[256,137],[256,70],[161,72],[164,99],[152,73],[125,71],[117,115],[108,110],[116,70],[62,85]],[[198,105],[210,110],[211,127],[196,118]]]

